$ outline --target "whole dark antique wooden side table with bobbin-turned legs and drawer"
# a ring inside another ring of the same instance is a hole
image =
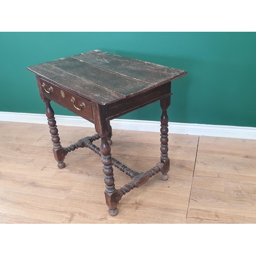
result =
[[[122,57],[100,50],[60,58],[28,67],[36,74],[41,99],[46,103],[46,116],[53,142],[53,154],[59,168],[64,168],[66,155],[78,147],[88,147],[101,157],[103,164],[105,199],[109,214],[118,214],[122,196],[149,178],[162,173],[167,180],[168,116],[170,83],[187,74],[184,70]],[[94,123],[97,134],[62,147],[54,111],[50,101]],[[110,120],[160,100],[162,109],[160,129],[160,162],[145,173],[138,173],[111,156],[112,128]],[[93,141],[101,139],[100,148]],[[116,189],[113,165],[131,177],[131,182]]]

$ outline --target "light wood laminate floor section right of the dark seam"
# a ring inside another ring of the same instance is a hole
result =
[[[187,221],[256,223],[256,143],[200,137]]]

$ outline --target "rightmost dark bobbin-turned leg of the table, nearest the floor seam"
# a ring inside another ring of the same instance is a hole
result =
[[[168,106],[170,105],[170,96],[161,99],[160,100],[160,106],[162,109],[162,115],[161,115],[161,163],[163,163],[163,169],[162,169],[162,180],[167,180],[168,179],[168,171],[170,168],[170,161],[168,158],[168,115],[167,115],[167,109]]]

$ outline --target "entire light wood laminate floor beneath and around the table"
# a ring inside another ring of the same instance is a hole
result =
[[[58,130],[62,146],[95,134]],[[112,155],[145,172],[160,133],[114,130]],[[255,140],[169,134],[169,158],[169,179],[131,190],[111,217],[97,154],[78,148],[58,169],[47,124],[0,122],[0,223],[256,223]],[[131,181],[115,167],[114,177],[117,188]]]

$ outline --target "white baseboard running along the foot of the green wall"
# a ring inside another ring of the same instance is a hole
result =
[[[57,125],[94,127],[94,124],[79,116],[55,115]],[[47,124],[44,114],[0,112],[0,121]],[[160,132],[160,121],[114,119],[113,129]],[[215,136],[240,139],[256,139],[255,127],[169,122],[169,133],[198,136]]]

